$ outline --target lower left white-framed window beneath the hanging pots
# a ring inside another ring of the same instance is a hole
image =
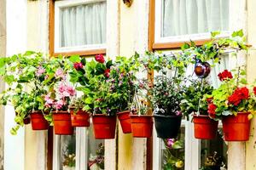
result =
[[[92,131],[92,126],[76,127],[73,135],[55,135],[53,170],[104,169],[104,140]]]

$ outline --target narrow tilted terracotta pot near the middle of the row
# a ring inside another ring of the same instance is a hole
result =
[[[117,114],[123,133],[131,133],[130,111],[122,111]]]

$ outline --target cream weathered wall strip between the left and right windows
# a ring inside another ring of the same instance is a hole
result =
[[[133,1],[131,8],[120,4],[120,55],[142,54],[148,48],[148,0]],[[119,127],[118,169],[146,169],[147,139],[132,138]]]

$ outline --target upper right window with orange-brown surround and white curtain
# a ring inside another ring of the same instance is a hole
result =
[[[149,47],[179,48],[183,42],[206,42],[211,31],[230,31],[230,0],[151,0]]]

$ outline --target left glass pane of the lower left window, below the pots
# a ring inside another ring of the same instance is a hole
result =
[[[75,170],[76,156],[76,136],[61,135],[60,136],[60,151],[61,151],[61,169],[60,170]]]

